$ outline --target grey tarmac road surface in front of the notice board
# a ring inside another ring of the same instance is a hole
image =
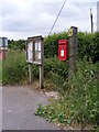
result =
[[[56,124],[34,116],[37,105],[47,105],[47,97],[28,87],[2,88],[3,130],[59,130]]]

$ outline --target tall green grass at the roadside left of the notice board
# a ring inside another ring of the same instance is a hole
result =
[[[20,84],[28,77],[24,52],[9,51],[8,58],[2,62],[2,84]]]

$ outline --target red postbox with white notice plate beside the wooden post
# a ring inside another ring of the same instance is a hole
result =
[[[67,40],[59,40],[58,41],[58,59],[66,61],[67,59]]]

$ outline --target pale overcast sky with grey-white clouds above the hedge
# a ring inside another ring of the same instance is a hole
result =
[[[64,0],[0,0],[0,36],[19,40],[47,35],[63,2]],[[79,31],[90,32],[90,8],[96,31],[97,2],[98,0],[67,0],[53,33],[68,31],[72,25],[78,26]]]

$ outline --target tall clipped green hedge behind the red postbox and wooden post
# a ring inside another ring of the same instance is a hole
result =
[[[44,55],[46,58],[58,56],[58,40],[67,38],[67,33],[57,33],[44,38]],[[87,58],[91,58],[95,63],[99,61],[99,33],[78,33],[78,57],[84,58],[86,55]]]

